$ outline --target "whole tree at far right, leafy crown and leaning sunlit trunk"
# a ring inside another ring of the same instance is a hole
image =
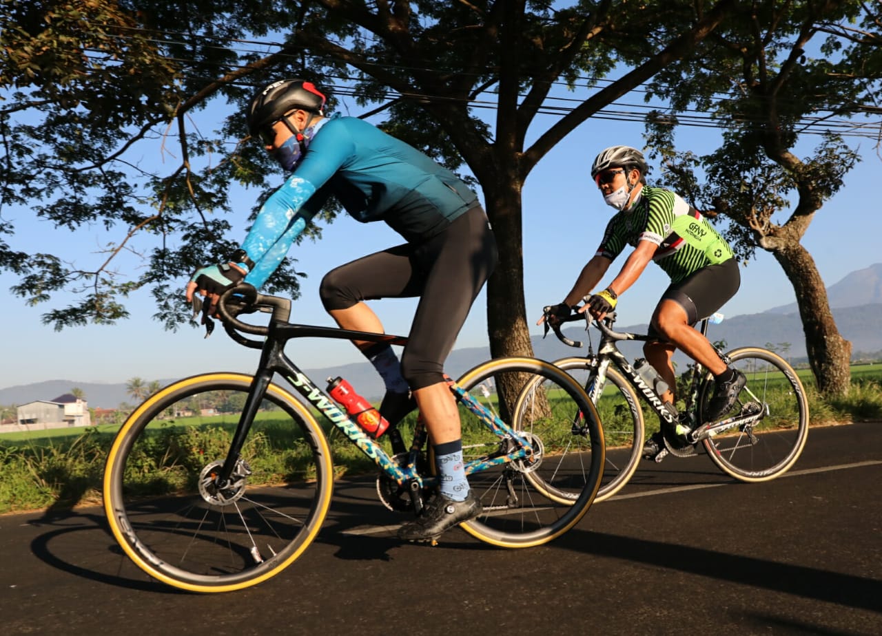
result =
[[[878,110],[882,74],[877,63],[860,60],[878,61],[880,18],[878,3],[752,3],[702,41],[693,58],[662,70],[647,97],[670,103],[647,121],[650,156],[664,170],[658,181],[706,211],[739,260],[757,248],[774,254],[802,313],[812,315],[804,330],[824,393],[848,390],[849,349],[800,241],[858,160],[846,134],[876,136],[831,120],[861,122],[868,108]],[[676,126],[689,108],[711,113],[724,129],[714,152],[676,149]],[[797,156],[797,144],[810,135],[818,143]]]

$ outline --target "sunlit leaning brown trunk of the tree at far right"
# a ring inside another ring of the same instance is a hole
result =
[[[796,292],[805,347],[818,391],[824,396],[846,395],[851,382],[851,343],[836,329],[814,259],[799,243],[776,249],[772,254]]]

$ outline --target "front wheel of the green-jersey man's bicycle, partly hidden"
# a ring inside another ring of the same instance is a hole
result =
[[[562,358],[554,361],[554,366],[563,369],[588,387],[594,381],[593,359],[585,357]],[[607,367],[606,384],[594,406],[597,408],[603,426],[605,456],[603,479],[594,503],[609,499],[628,483],[643,455],[644,426],[643,410],[637,393],[624,375],[612,366]],[[581,433],[585,416],[581,411],[572,413],[572,430],[567,436],[557,440],[554,455],[557,461],[564,462],[566,456],[582,452],[587,438]],[[549,448],[545,448],[546,462],[549,462]],[[564,499],[575,499],[575,492],[562,492]]]

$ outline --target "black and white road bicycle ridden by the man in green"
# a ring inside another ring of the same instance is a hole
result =
[[[548,317],[549,307],[545,307]],[[706,336],[708,324],[720,322],[722,314],[714,314],[700,322],[699,330]],[[641,377],[617,347],[622,341],[647,341],[653,336],[618,332],[612,329],[616,314],[608,314],[602,322],[591,321],[590,315],[572,314],[561,322],[586,321],[586,329],[594,325],[601,332],[597,353],[590,338],[585,356],[571,356],[554,361],[571,373],[586,388],[600,413],[606,436],[603,480],[595,502],[609,499],[628,483],[641,457],[645,441],[647,413],[661,422],[665,419],[680,431],[687,431],[685,447],[664,440],[664,447],[649,459],[655,462],[675,455],[695,455],[699,443],[711,460],[729,476],[744,482],[763,482],[781,476],[790,469],[803,452],[809,433],[809,403],[802,382],[787,361],[773,351],[759,347],[742,347],[723,352],[714,349],[720,359],[745,374],[747,383],[736,403],[721,419],[705,421],[703,413],[714,395],[714,376],[699,364],[688,374],[688,388],[680,410],[669,408],[659,397],[665,387],[656,386]],[[550,325],[558,339],[569,346],[583,344],[564,336],[560,324]],[[686,375],[686,374],[684,374]],[[642,402],[642,406],[641,406]],[[646,409],[646,412],[645,410]],[[573,431],[579,429],[582,414],[573,416]],[[573,436],[573,443],[578,443]]]

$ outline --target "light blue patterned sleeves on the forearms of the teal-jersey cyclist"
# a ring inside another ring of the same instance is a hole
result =
[[[279,267],[306,223],[318,211],[317,206],[304,206],[315,192],[316,187],[310,181],[292,175],[266,200],[242,244],[254,261],[254,268],[245,277],[246,283],[260,289]]]

